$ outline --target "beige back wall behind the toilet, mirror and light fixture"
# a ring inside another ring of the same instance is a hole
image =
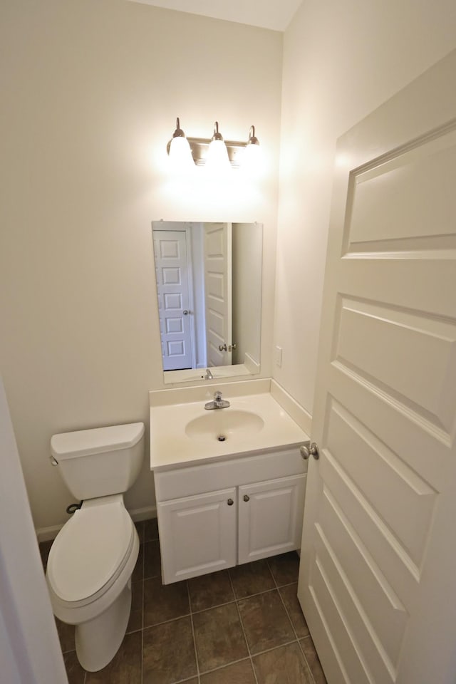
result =
[[[282,35],[124,0],[6,0],[0,26],[0,370],[43,528],[72,500],[51,435],[147,422],[162,386],[153,219],[263,223],[273,299]],[[254,123],[262,180],[172,180],[177,115],[201,137]],[[266,374],[272,323],[269,307]],[[153,504],[147,464],[127,502]]]

